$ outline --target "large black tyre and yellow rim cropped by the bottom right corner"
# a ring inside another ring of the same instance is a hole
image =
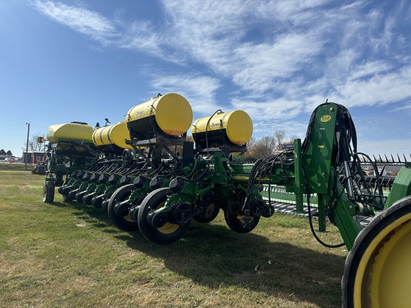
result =
[[[411,307],[411,196],[375,216],[345,261],[342,307]]]

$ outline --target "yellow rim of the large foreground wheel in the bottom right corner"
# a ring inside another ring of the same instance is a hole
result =
[[[411,307],[411,213],[387,225],[370,242],[358,265],[355,307]]]

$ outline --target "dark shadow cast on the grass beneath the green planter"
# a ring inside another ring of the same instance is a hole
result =
[[[73,215],[101,227],[133,250],[160,258],[169,270],[210,289],[236,287],[268,297],[293,297],[319,307],[341,305],[345,257],[275,242],[255,232],[239,234],[213,222],[192,221],[181,240],[158,246],[140,232],[117,230],[102,210],[77,202],[55,205],[76,209]]]

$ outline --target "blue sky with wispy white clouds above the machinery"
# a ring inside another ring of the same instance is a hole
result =
[[[0,149],[173,92],[194,120],[246,111],[253,138],[304,138],[328,99],[359,151],[409,158],[410,29],[407,0],[0,1]]]

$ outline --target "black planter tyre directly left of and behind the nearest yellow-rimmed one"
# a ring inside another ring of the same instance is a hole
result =
[[[130,196],[131,192],[135,190],[136,188],[134,187],[133,184],[128,184],[121,186],[121,188],[118,188],[113,195],[111,195],[110,200],[108,200],[108,205],[107,205],[107,213],[108,213],[108,218],[110,218],[110,221],[113,225],[118,227],[118,229],[121,229],[123,231],[137,231],[138,230],[138,223],[131,220],[131,218],[127,215],[125,216],[118,216],[116,212],[114,211],[114,206],[116,205],[117,202],[124,201],[128,199]]]

